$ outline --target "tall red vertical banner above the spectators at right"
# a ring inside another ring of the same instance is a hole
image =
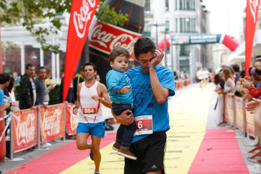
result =
[[[246,8],[246,71],[245,75],[248,76],[248,68],[251,62],[251,55],[253,49],[253,39],[255,35],[255,25],[258,16],[259,0],[247,0]]]

